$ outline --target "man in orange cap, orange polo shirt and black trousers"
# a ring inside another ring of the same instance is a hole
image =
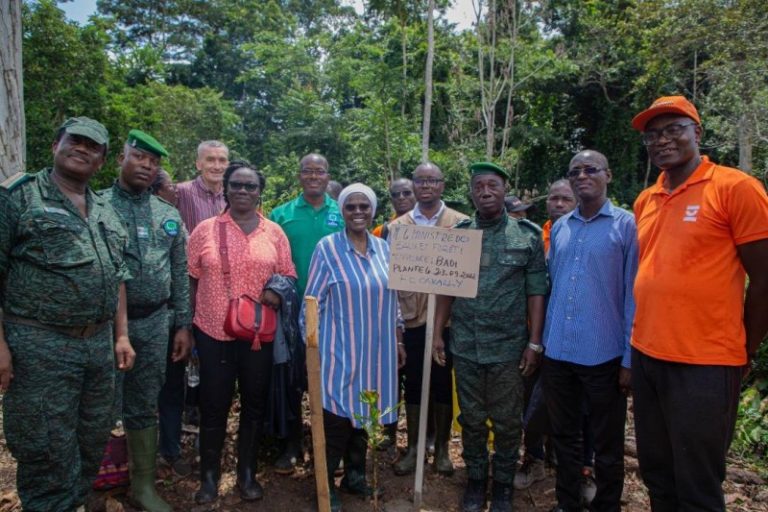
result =
[[[699,153],[701,120],[682,96],[659,98],[632,126],[662,170],[634,207],[640,473],[654,511],[722,511],[741,377],[768,331],[768,196]]]

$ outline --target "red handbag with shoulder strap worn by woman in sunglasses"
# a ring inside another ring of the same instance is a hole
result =
[[[224,284],[229,296],[227,316],[224,318],[224,332],[236,340],[250,341],[251,350],[261,350],[262,343],[271,343],[277,330],[277,312],[265,306],[248,294],[232,297],[232,276],[229,267],[227,230],[219,223],[219,254]]]

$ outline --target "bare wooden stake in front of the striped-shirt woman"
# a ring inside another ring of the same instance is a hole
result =
[[[325,462],[325,428],[323,427],[323,388],[320,377],[320,350],[318,348],[317,299],[304,297],[307,326],[307,377],[309,386],[309,419],[312,425],[312,448],[315,455],[315,483],[317,484],[317,510],[330,512],[331,494],[328,487],[328,466]]]

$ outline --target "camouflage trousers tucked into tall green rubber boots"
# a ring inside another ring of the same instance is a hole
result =
[[[129,372],[116,371],[115,416],[127,430],[157,425],[157,399],[165,382],[168,357],[168,309],[128,321],[128,337],[136,361]]]

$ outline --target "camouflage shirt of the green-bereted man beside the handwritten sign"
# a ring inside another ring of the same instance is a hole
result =
[[[538,226],[474,217],[458,229],[482,229],[477,297],[456,297],[451,307],[450,350],[479,364],[519,360],[528,343],[528,296],[549,289]]]

